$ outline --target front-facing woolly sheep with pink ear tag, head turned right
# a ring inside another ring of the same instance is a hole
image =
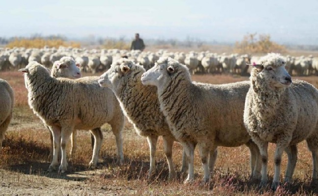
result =
[[[268,53],[254,63],[244,107],[244,124],[262,155],[260,186],[268,181],[268,142],[276,143],[273,190],[279,185],[284,148],[293,151],[285,175],[285,182],[290,182],[297,159],[296,144],[303,140],[313,155],[313,181],[318,180],[318,90],[305,81],[291,81],[285,64],[276,53]]]

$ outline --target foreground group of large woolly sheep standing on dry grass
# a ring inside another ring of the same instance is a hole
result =
[[[186,59],[185,59],[186,60]],[[203,63],[203,60],[202,60]],[[194,178],[194,148],[204,171],[203,182],[210,180],[217,147],[250,149],[251,177],[267,185],[267,147],[276,143],[275,172],[271,188],[279,186],[282,153],[288,154],[285,182],[297,161],[297,143],[306,140],[313,156],[313,182],[318,180],[318,90],[301,80],[291,80],[288,61],[269,53],[252,64],[250,81],[212,85],[191,80],[191,69],[179,60],[162,56],[152,68],[129,58],[113,61],[100,77],[80,77],[81,66],[72,57],[53,62],[50,72],[36,61],[24,72],[28,104],[52,133],[53,159],[49,171],[67,171],[66,145],[72,135],[76,149],[77,129],[93,135],[91,167],[98,163],[103,140],[100,127],[109,123],[116,137],[118,162],[123,161],[121,133],[124,116],[150,147],[149,177],[155,172],[156,144],[163,137],[169,178],[176,176],[172,146],[184,148],[182,171],[185,182]],[[13,91],[0,80],[0,143],[12,117]],[[3,102],[4,101],[4,102]],[[6,105],[7,107],[3,107]]]

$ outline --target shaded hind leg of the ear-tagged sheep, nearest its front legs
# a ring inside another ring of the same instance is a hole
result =
[[[285,148],[285,151],[288,155],[288,164],[287,170],[285,173],[285,182],[291,182],[292,174],[296,167],[297,162],[297,146],[292,145]]]

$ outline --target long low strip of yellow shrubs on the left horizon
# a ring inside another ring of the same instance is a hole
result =
[[[65,42],[62,39],[42,39],[42,38],[35,38],[35,39],[18,39],[16,38],[14,41],[8,43],[6,45],[7,48],[14,48],[14,47],[25,47],[25,48],[43,48],[48,46],[50,48],[55,47],[58,48],[60,46],[64,47],[74,47],[79,48],[80,44],[78,42]]]

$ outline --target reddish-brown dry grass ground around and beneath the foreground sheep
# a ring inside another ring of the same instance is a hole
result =
[[[100,75],[96,74],[96,75]],[[150,157],[145,138],[139,137],[132,124],[126,123],[123,130],[124,157],[121,166],[116,165],[116,145],[109,125],[104,125],[104,142],[100,152],[98,169],[90,170],[88,163],[92,149],[89,131],[78,131],[78,150],[68,160],[65,174],[48,173],[50,137],[49,131],[27,104],[27,89],[23,74],[0,73],[15,92],[14,119],[6,132],[0,154],[0,195],[316,195],[318,187],[311,186],[312,159],[306,143],[298,145],[298,161],[290,185],[281,186],[276,192],[258,189],[259,182],[249,180],[249,150],[247,147],[219,147],[215,171],[209,185],[201,185],[203,177],[201,161],[195,151],[195,181],[183,184],[185,176],[168,181],[168,166],[163,153],[162,140],[158,142],[157,172],[147,179]],[[221,84],[248,77],[226,75],[194,75],[199,82]],[[318,77],[302,77],[318,87]],[[174,146],[173,161],[180,171],[182,147]],[[274,145],[269,146],[269,182],[272,180]],[[282,161],[282,176],[286,169],[287,156]],[[180,173],[179,173],[180,174]],[[269,183],[270,186],[270,183]]]

